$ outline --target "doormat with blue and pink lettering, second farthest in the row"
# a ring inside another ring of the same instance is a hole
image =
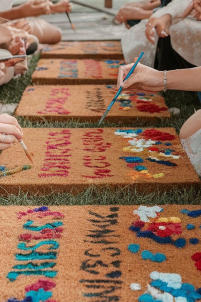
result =
[[[40,59],[33,72],[36,84],[116,84],[120,60]]]

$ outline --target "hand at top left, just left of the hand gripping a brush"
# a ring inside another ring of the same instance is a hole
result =
[[[23,18],[37,17],[43,14],[51,14],[50,6],[52,2],[49,0],[32,0],[25,2],[19,6],[20,15]]]

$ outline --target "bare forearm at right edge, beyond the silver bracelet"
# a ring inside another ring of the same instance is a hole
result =
[[[201,91],[201,66],[167,71],[167,89]]]

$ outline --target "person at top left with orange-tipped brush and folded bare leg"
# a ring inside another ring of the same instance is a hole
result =
[[[61,30],[57,26],[42,19],[26,18],[38,17],[42,14],[70,12],[71,4],[68,0],[56,4],[50,0],[32,0],[12,8],[13,2],[13,0],[0,0],[0,17],[5,21],[12,20],[12,22],[6,22],[6,25],[36,36],[39,43],[42,44],[55,44],[61,41]]]

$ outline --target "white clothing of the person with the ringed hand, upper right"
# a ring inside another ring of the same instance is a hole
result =
[[[172,0],[167,6],[160,8],[152,17],[162,17],[164,14],[172,16],[172,26],[170,28],[171,44],[174,50],[180,54],[187,62],[201,66],[201,21],[188,16],[181,19],[182,14],[192,0]],[[142,20],[139,24],[128,30],[122,39],[122,49],[127,63],[131,63],[135,56],[139,56],[142,50],[147,49],[142,63],[153,67],[157,38],[155,35],[155,45],[152,45],[145,36],[146,23]]]

